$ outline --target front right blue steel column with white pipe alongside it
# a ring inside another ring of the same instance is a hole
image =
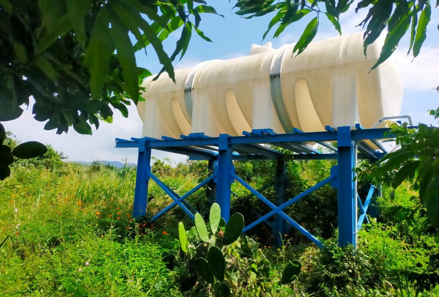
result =
[[[357,195],[354,179],[357,151],[349,126],[337,130],[339,246],[357,247]]]

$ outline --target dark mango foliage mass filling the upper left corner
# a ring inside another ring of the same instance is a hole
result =
[[[31,96],[34,118],[58,134],[70,126],[91,134],[99,120],[112,121],[111,107],[127,117],[151,75],[137,67],[135,52],[155,52],[161,73],[174,79],[172,62],[193,31],[210,41],[198,29],[202,13],[216,11],[204,0],[0,0],[0,122],[20,117]],[[179,28],[169,55],[162,42]],[[43,147],[33,141],[15,154],[2,146],[0,179],[14,154],[37,156]]]

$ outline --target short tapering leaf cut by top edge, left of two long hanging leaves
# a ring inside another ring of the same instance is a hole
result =
[[[90,13],[92,3],[90,0],[67,0],[65,1],[67,14],[75,32],[75,37],[82,47],[85,47],[87,36],[85,35],[85,17]]]

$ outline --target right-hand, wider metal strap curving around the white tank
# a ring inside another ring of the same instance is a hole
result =
[[[286,133],[290,133],[293,129],[291,125],[290,117],[288,116],[287,109],[282,96],[282,81],[281,81],[281,69],[282,60],[290,47],[285,47],[283,50],[279,49],[276,55],[273,57],[270,69],[270,91],[273,105],[275,106],[277,117],[279,118],[280,125]]]

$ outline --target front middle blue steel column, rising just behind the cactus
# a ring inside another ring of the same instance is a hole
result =
[[[216,203],[221,207],[221,217],[228,221],[230,218],[230,192],[233,182],[233,163],[231,145],[228,135],[220,134],[218,145],[218,164],[216,166]]]

